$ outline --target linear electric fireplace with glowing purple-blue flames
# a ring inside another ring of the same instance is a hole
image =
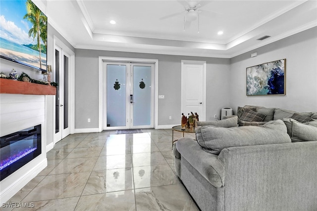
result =
[[[41,125],[0,137],[0,181],[41,154]]]

